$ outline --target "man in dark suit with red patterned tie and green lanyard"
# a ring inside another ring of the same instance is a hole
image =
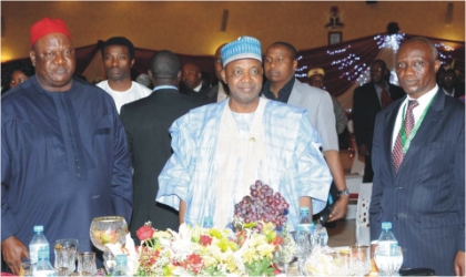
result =
[[[423,38],[396,54],[407,96],[376,119],[371,238],[377,239],[382,222],[392,222],[403,267],[464,276],[465,105],[436,84],[439,66],[437,50]]]

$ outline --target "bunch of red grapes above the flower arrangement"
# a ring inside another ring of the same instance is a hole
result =
[[[287,208],[290,204],[285,198],[266,184],[256,181],[251,185],[251,195],[246,195],[243,199],[234,205],[234,215],[242,218],[244,223],[257,222],[254,227],[261,232],[264,223],[272,222],[275,226],[283,226],[286,223]]]

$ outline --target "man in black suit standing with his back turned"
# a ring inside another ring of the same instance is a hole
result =
[[[135,232],[148,220],[158,229],[179,227],[178,212],[155,203],[158,177],[172,154],[169,127],[196,106],[191,98],[178,91],[180,60],[172,52],[163,50],[152,57],[149,76],[154,84],[152,94],[123,105],[120,114],[134,168],[130,229],[135,239]]]

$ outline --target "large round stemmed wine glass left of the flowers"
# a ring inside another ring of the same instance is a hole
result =
[[[102,216],[92,219],[90,236],[92,244],[103,252],[103,265],[107,273],[112,273],[115,265],[114,257],[107,244],[124,245],[128,234],[128,224],[122,216]]]

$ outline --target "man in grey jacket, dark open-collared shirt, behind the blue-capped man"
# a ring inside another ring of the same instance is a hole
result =
[[[350,191],[340,161],[333,103],[326,91],[297,81],[294,76],[296,66],[296,49],[293,45],[286,42],[272,43],[265,51],[264,72],[267,82],[262,93],[267,99],[307,109],[311,124],[322,138],[324,157],[340,194],[330,214],[328,222],[334,222],[345,216]]]

